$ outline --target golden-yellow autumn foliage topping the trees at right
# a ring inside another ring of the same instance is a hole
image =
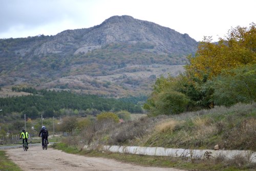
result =
[[[226,39],[212,43],[211,37],[200,42],[195,58],[189,57],[190,65],[185,67],[189,77],[215,77],[223,69],[256,63],[256,27],[240,26],[229,30]]]

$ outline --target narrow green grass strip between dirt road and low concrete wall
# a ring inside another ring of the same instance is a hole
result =
[[[84,151],[74,146],[68,146],[64,143],[56,143],[52,145],[53,148],[59,149],[66,153],[84,155],[89,157],[103,157],[108,159],[114,159],[120,162],[132,163],[141,166],[151,167],[174,167],[187,170],[225,170],[236,171],[245,170],[251,171],[253,168],[239,168],[236,166],[227,166],[226,164],[214,160],[189,160],[186,158],[166,157],[166,156],[146,156],[146,155],[134,155],[134,154],[122,154],[122,153],[110,153],[99,151]]]

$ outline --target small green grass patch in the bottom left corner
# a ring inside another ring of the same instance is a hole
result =
[[[1,171],[21,171],[15,163],[13,163],[4,151],[0,151],[0,170]]]

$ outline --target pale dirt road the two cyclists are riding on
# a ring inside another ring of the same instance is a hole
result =
[[[27,152],[22,148],[7,149],[7,155],[23,170],[146,170],[181,171],[174,168],[143,167],[110,159],[67,154],[57,149],[42,150],[31,146]]]

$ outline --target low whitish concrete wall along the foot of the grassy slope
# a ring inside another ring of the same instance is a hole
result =
[[[232,159],[235,156],[243,156],[251,162],[256,163],[256,152],[240,150],[212,150],[212,149],[183,149],[183,148],[163,148],[163,147],[142,147],[142,146],[117,146],[104,145],[103,150],[116,153],[131,153],[150,156],[171,156],[187,157],[194,159],[216,158],[223,156]]]

